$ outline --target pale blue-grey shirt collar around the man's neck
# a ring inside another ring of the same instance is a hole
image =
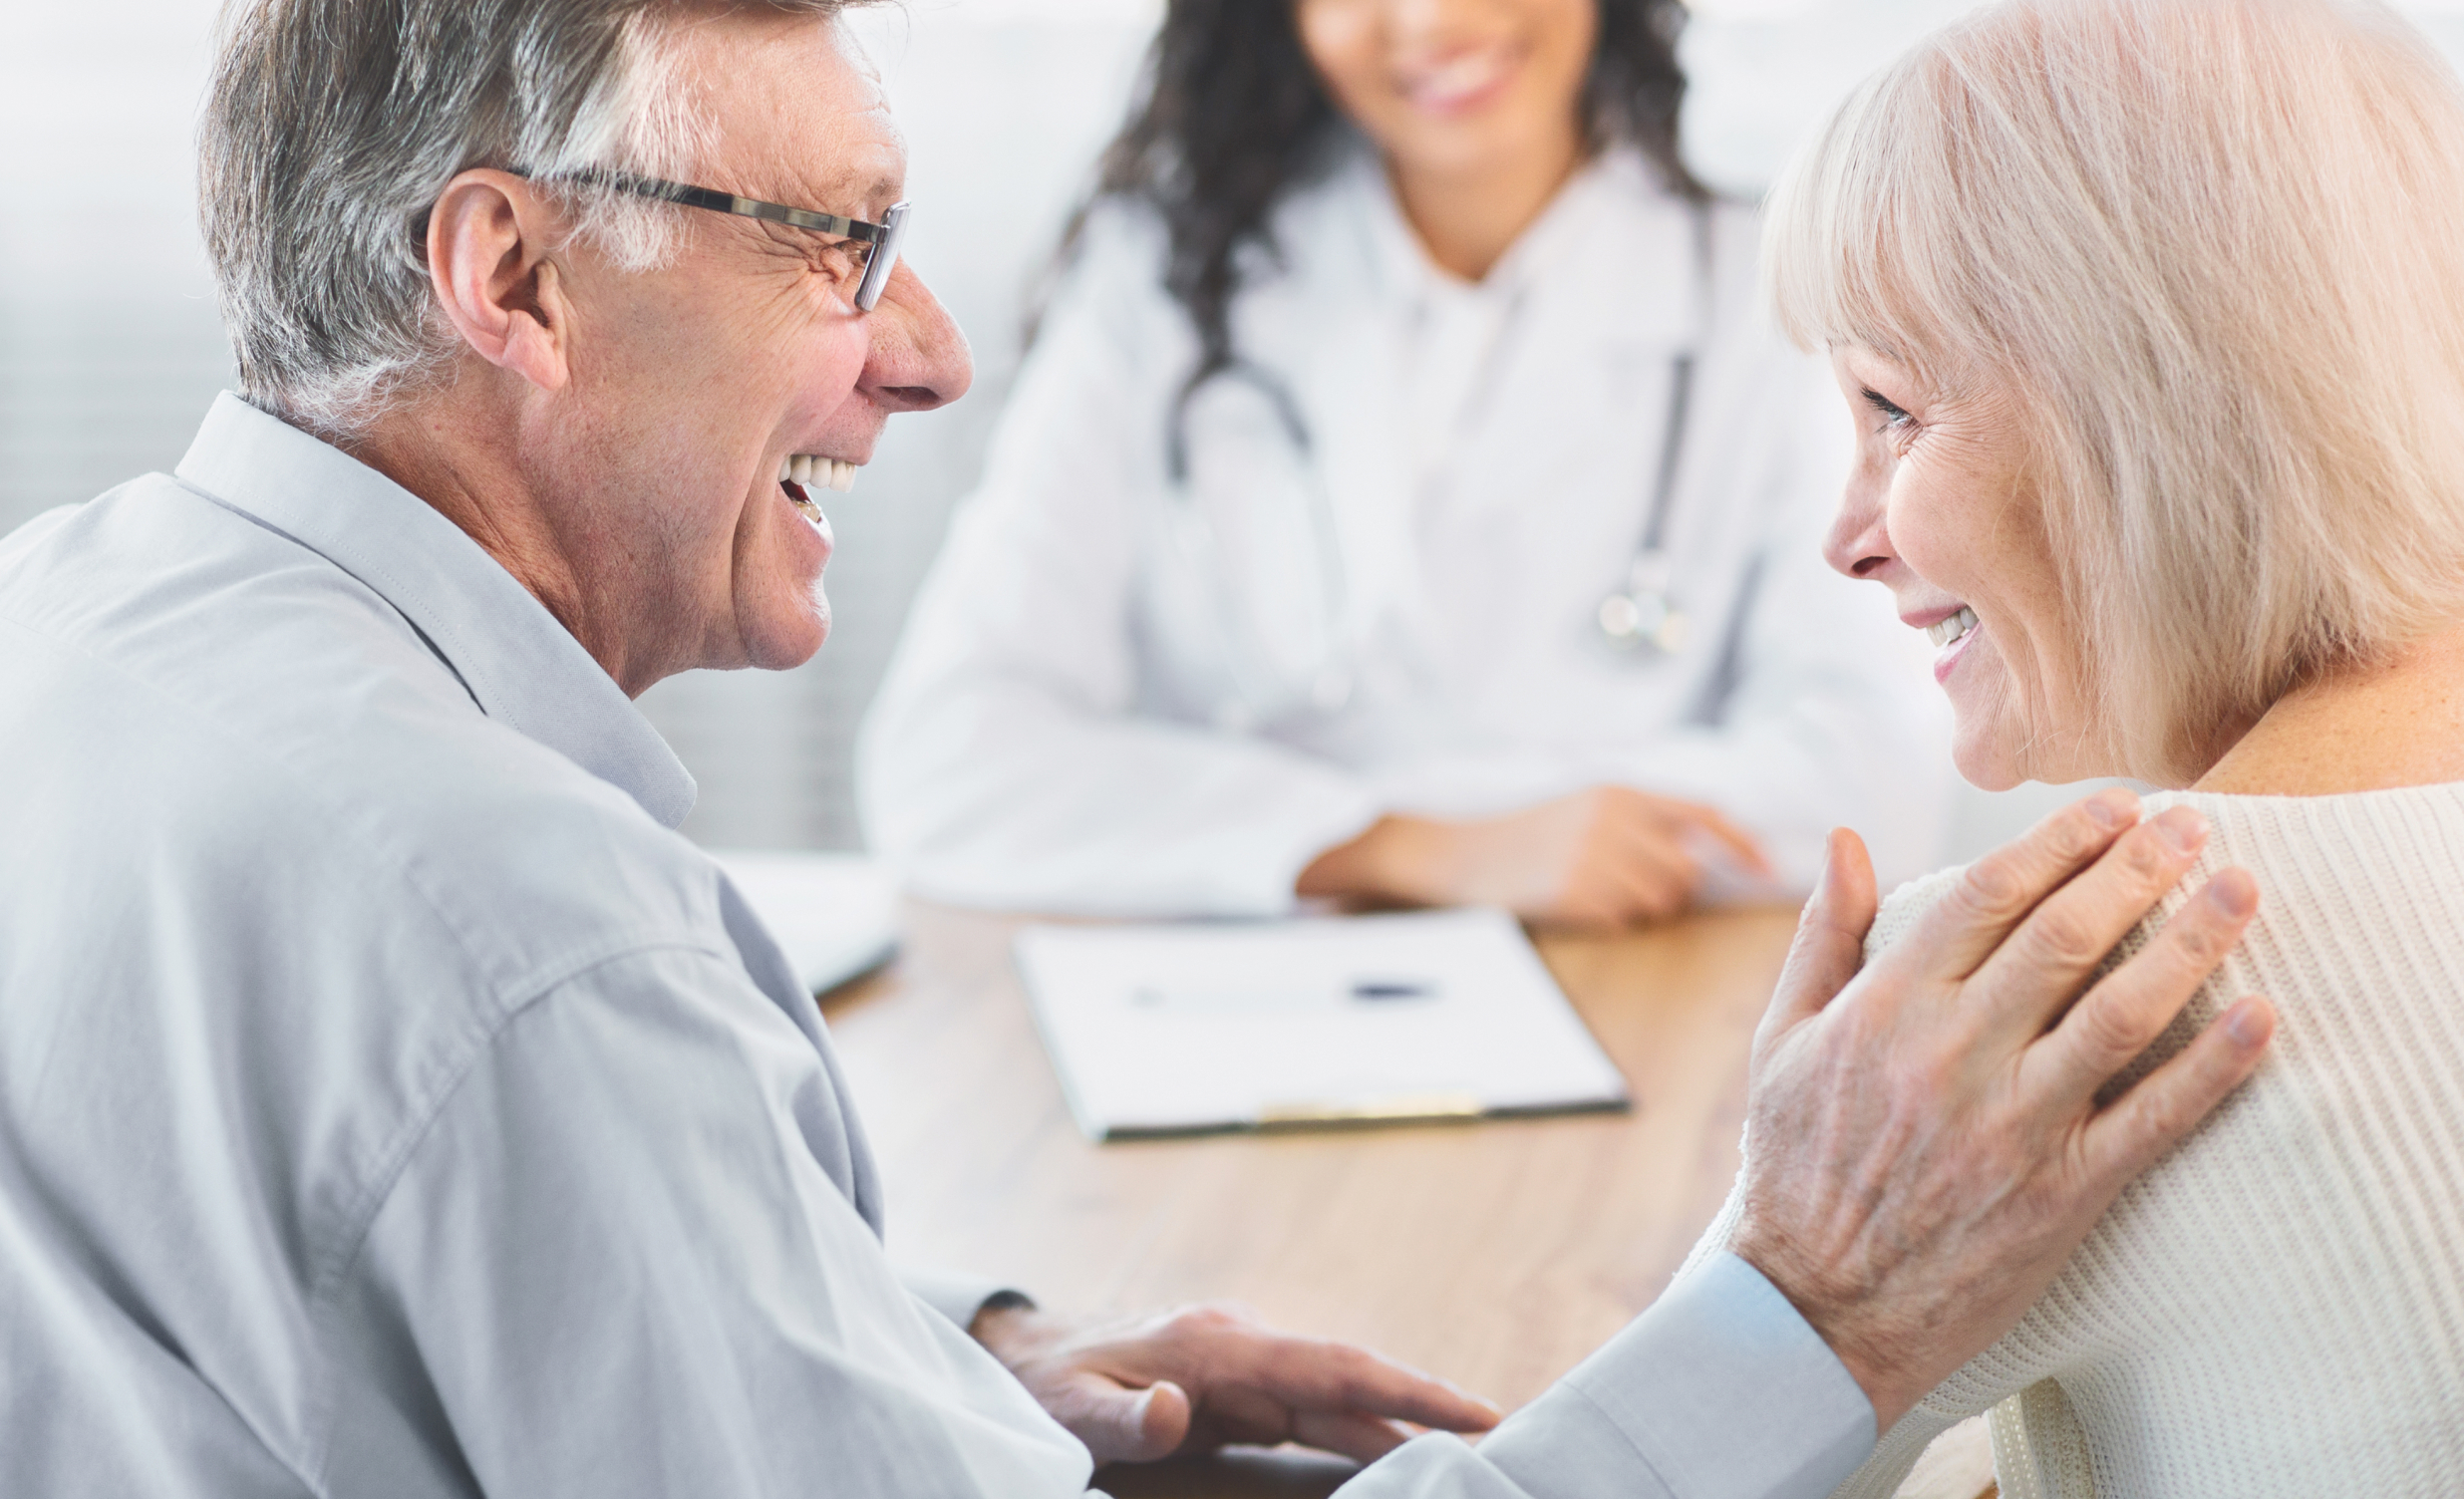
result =
[[[480,713],[678,826],[695,784],[616,678],[458,525],[392,478],[232,392],[177,476],[323,555],[402,611]]]

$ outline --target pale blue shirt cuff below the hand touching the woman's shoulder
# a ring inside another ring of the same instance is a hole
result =
[[[1587,1494],[1636,1460],[1673,1499],[1821,1499],[1873,1452],[1873,1403],[1737,1255],[1698,1265],[1481,1442],[1533,1494]]]

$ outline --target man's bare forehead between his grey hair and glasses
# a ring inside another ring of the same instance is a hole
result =
[[[710,187],[870,219],[904,195],[907,141],[845,25],[737,10],[678,42],[712,123]]]

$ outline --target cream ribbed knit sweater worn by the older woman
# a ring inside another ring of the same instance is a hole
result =
[[[2213,833],[2161,917],[2235,863],[2262,905],[2139,1070],[2242,994],[2274,1050],[1838,1494],[1887,1499],[1981,1410],[2008,1499],[2464,1494],[2464,784],[2146,799],[2176,804]],[[1868,957],[1954,878],[1900,888]]]

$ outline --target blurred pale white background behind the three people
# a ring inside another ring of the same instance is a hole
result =
[[[1274,2],[1274,0],[1259,0]],[[192,210],[214,0],[0,5],[0,533],[170,468],[229,353]],[[1685,136],[1752,195],[1855,79],[1964,0],[1698,0]],[[2464,0],[2400,0],[2464,57]],[[909,256],[976,345],[976,392],[899,417],[830,518],[828,648],[791,673],[690,673],[643,710],[702,784],[685,831],[855,848],[850,740],[909,594],[968,491],[1023,308],[1119,123],[1161,0],[904,0],[857,12],[912,150]],[[1971,796],[1966,856],[2077,794]]]

